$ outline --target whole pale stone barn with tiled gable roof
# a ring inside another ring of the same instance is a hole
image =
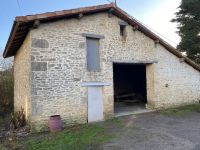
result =
[[[35,130],[200,100],[200,67],[114,4],[16,17],[3,56]]]

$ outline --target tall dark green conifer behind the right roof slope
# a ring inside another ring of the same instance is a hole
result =
[[[200,0],[182,0],[176,18],[178,34],[181,42],[177,46],[180,51],[200,64]]]

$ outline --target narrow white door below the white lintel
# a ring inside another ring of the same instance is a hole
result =
[[[88,87],[88,122],[101,120],[103,120],[102,87]]]

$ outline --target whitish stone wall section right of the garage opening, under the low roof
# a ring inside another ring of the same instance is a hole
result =
[[[200,72],[181,62],[161,45],[154,65],[154,107],[174,107],[200,100]]]

